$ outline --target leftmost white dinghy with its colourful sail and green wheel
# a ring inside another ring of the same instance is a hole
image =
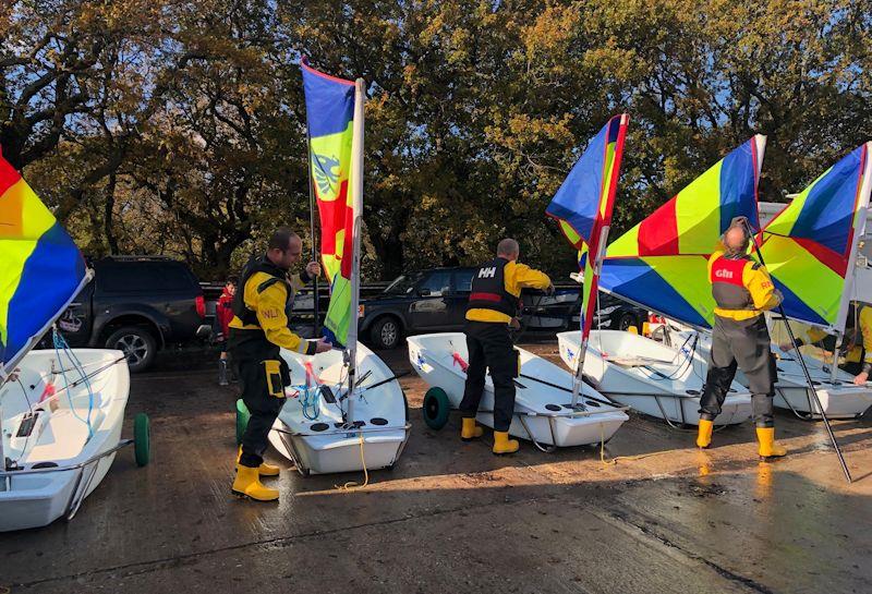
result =
[[[100,484],[121,439],[124,354],[32,350],[89,280],[72,239],[0,156],[0,532],[72,519]],[[148,462],[148,417],[135,421]]]

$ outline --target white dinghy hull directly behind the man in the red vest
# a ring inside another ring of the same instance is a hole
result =
[[[581,332],[560,332],[557,342],[560,359],[569,368],[574,368]],[[676,354],[659,342],[631,332],[593,330],[588,342],[584,375],[605,396],[642,414],[670,424],[699,425],[705,365],[700,365],[699,361],[681,364]],[[750,417],[751,395],[734,381],[715,424],[736,425]]]

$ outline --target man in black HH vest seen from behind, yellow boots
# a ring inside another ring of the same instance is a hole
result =
[[[472,277],[472,291],[467,308],[469,367],[467,386],[460,413],[463,440],[481,437],[482,427],[475,425],[479,402],[484,391],[485,372],[491,368],[494,383],[494,453],[518,451],[516,439],[509,439],[509,425],[514,414],[514,378],[519,373],[518,353],[509,336],[509,325],[519,327],[518,301],[521,289],[544,289],[554,292],[550,279],[544,272],[518,264],[520,247],[513,239],[504,239],[497,245],[497,257],[482,265]]]

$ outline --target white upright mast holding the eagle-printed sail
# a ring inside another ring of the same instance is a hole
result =
[[[361,230],[363,227],[363,107],[366,82],[354,82],[354,123],[351,140],[351,201],[354,209],[351,260],[351,317],[348,327],[348,413],[346,422],[354,422],[354,381],[358,367],[358,311],[361,301]]]

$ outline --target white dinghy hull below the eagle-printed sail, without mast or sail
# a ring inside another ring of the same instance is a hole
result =
[[[342,351],[305,356],[282,349],[281,356],[290,367],[292,388],[286,390],[287,401],[269,433],[279,453],[292,460],[304,475],[356,472],[364,465],[377,470],[397,463],[411,429],[405,396],[393,373],[375,353],[358,343],[359,388],[352,396],[356,427],[342,425],[340,404],[347,410],[348,400],[344,404],[331,403],[313,393],[312,405],[306,411],[303,407],[301,387],[305,384],[306,363],[335,397],[348,391]],[[367,390],[367,386],[382,381]],[[307,419],[304,412],[314,419]]]

